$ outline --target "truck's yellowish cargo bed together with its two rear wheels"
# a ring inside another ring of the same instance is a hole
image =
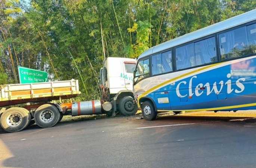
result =
[[[1,127],[7,132],[21,131],[35,122],[43,128],[52,127],[72,108],[72,103],[52,101],[70,99],[78,94],[78,80],[1,85]],[[12,105],[19,107],[8,108]]]

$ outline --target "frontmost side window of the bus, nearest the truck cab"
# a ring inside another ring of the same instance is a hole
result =
[[[149,76],[149,59],[141,60],[135,70],[134,82]]]

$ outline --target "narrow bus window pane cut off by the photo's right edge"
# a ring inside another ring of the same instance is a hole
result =
[[[248,50],[249,54],[256,53],[256,24],[246,27],[248,36]]]

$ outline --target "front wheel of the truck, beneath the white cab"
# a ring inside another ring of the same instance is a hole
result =
[[[119,111],[127,116],[127,115],[135,115],[138,111],[138,106],[133,103],[133,98],[131,96],[123,97],[120,100],[118,105]]]

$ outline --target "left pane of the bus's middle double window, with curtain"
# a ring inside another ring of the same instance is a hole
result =
[[[175,53],[177,70],[195,66],[194,43],[177,48]]]

